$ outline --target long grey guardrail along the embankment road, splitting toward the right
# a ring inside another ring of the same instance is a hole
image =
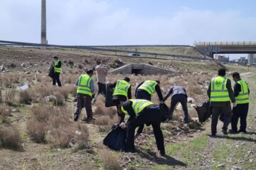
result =
[[[155,52],[134,52],[129,50],[118,50],[118,49],[110,49],[110,48],[102,48],[102,47],[137,47],[136,45],[113,45],[113,46],[85,46],[85,45],[43,45],[38,43],[29,43],[29,42],[14,42],[14,41],[4,41],[0,40],[0,45],[11,45],[11,46],[22,46],[22,47],[61,47],[61,48],[76,48],[76,49],[84,49],[84,50],[99,50],[99,51],[107,51],[107,52],[124,52],[124,53],[137,53],[139,55],[153,55],[153,56],[166,56],[166,57],[176,57],[176,58],[185,58],[192,60],[213,60],[209,57],[193,57],[188,55],[170,55],[163,53],[155,53]],[[139,45],[138,45],[139,46]],[[190,45],[170,45],[170,47],[192,47]],[[140,45],[139,47],[167,47],[167,45]]]

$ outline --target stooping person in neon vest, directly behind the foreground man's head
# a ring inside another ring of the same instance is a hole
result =
[[[129,77],[124,77],[123,80],[117,80],[114,84],[107,83],[110,88],[114,89],[112,101],[117,106],[117,115],[120,123],[124,120],[124,114],[119,113],[118,107],[122,102],[127,101],[127,98],[132,98],[132,89],[129,81]]]

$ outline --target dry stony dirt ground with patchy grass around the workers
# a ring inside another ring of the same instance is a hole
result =
[[[10,72],[18,74],[18,77],[25,77],[24,81],[16,83],[15,86],[28,82],[31,87],[34,87],[38,82],[32,79],[33,77],[36,77],[37,80],[40,77],[41,82],[39,83],[49,85],[50,80],[44,77],[47,76],[47,69],[51,62],[49,57],[52,55],[62,56],[63,61],[66,61],[64,65],[65,73],[62,78],[65,79],[65,84],[69,85],[73,84],[80,72],[82,72],[82,69],[78,67],[79,63],[85,63],[82,64],[84,68],[96,65],[96,60],[102,58],[106,58],[111,64],[114,63],[114,60],[118,60],[109,56],[95,56],[90,52],[71,50],[41,51],[6,47],[0,47],[0,50],[0,65],[4,64],[4,70],[9,70],[8,72],[2,70],[1,77]],[[72,62],[69,62],[70,58],[74,62],[72,67],[70,66]],[[122,58],[122,62],[149,61]],[[176,76],[166,77],[160,75],[157,77],[161,79],[161,82],[166,80],[163,83],[164,89],[162,89],[164,94],[168,91],[166,86],[178,81],[183,83],[186,88],[190,88],[190,96],[196,100],[196,105],[207,99],[205,88],[208,84],[207,80],[213,77],[218,69],[213,63],[166,62],[161,60],[151,60],[151,62],[158,67],[170,67],[182,73],[182,75]],[[11,67],[11,63],[16,66]],[[21,66],[21,64],[26,66]],[[210,120],[202,125],[198,123],[185,125],[181,122],[183,112],[177,108],[174,113],[176,114],[176,120],[161,124],[164,133],[166,157],[159,155],[150,127],[145,128],[143,135],[136,140],[135,145],[138,153],[129,154],[107,148],[102,144],[102,140],[107,135],[108,130],[102,130],[102,126],[88,124],[82,120],[78,123],[87,126],[90,133],[89,146],[83,148],[72,146],[65,148],[53,147],[47,142],[33,142],[28,136],[26,123],[32,118],[31,108],[36,103],[11,106],[11,116],[9,118],[11,125],[14,125],[21,135],[22,149],[15,150],[0,147],[0,169],[256,169],[256,87],[254,86],[256,74],[255,72],[247,72],[247,68],[244,67],[230,67],[230,72],[237,70],[243,72],[242,78],[249,82],[251,91],[247,133],[225,136],[220,131],[222,123],[219,122],[218,136],[210,137],[208,136],[210,135]],[[68,77],[68,74],[71,74],[71,76]],[[122,75],[111,76],[109,80],[114,81],[117,77],[122,77]],[[151,78],[156,77],[153,76]],[[149,79],[149,77],[139,76],[134,79],[136,81],[132,81],[132,86],[136,86],[137,81]],[[187,79],[187,81],[183,82],[183,79]],[[194,81],[200,84],[192,86],[190,83]],[[198,88],[196,89],[196,87]],[[202,90],[198,91],[198,89]],[[73,96],[68,96],[65,105],[74,111],[75,103],[72,100]],[[157,100],[155,101],[157,102]],[[100,100],[96,101],[93,111],[96,112],[97,107],[100,107],[101,104],[99,102]],[[167,101],[166,104],[169,105],[169,102]],[[189,113],[196,118],[195,109],[190,107],[190,104],[188,106]],[[82,111],[82,114],[85,115],[85,111]],[[70,112],[68,115],[70,115],[70,121],[72,121],[73,113]],[[100,117],[100,115],[97,116]],[[118,166],[114,166],[115,164],[118,164]]]

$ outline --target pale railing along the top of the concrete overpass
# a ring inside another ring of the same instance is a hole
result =
[[[256,45],[256,41],[194,42],[194,46],[197,45]]]

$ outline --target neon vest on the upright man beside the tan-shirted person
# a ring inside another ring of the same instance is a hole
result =
[[[81,75],[78,79],[77,94],[87,94],[89,96],[92,96],[92,91],[90,89],[91,80],[92,77],[90,77],[88,74]]]

